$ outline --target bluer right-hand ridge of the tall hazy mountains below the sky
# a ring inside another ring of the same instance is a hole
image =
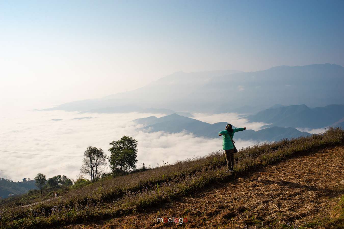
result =
[[[278,66],[213,78],[193,97],[207,101],[207,108],[223,113],[235,112],[243,104],[261,108],[273,104],[341,104],[343,87],[344,68],[340,65]],[[205,90],[207,93],[202,95]],[[230,99],[220,100],[225,92],[230,93]],[[216,99],[221,101],[221,107],[216,107]]]

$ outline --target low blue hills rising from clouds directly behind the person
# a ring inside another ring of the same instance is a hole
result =
[[[165,131],[166,133],[179,133],[186,131],[196,137],[218,138],[218,133],[225,129],[227,122],[209,124],[198,121],[193,118],[171,114],[161,118],[150,116],[134,120],[137,124],[144,127],[140,130],[148,133],[156,131]],[[295,128],[270,127],[259,131],[245,130],[235,133],[236,139],[254,140],[254,141],[277,141],[282,138],[295,138],[300,136],[309,136],[307,132],[300,132]]]

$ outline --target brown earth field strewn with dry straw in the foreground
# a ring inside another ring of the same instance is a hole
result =
[[[170,204],[65,228],[341,228],[329,221],[344,195],[343,171],[344,146],[332,147],[234,174]],[[157,222],[170,217],[187,222]]]

